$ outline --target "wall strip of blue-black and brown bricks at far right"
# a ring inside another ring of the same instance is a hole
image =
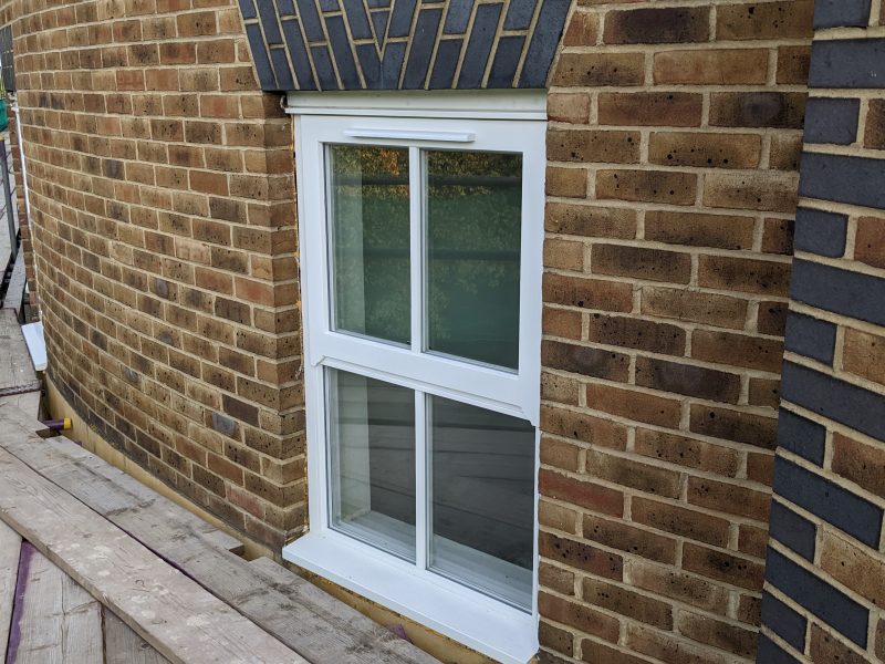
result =
[[[885,661],[885,39],[819,3],[759,662]]]

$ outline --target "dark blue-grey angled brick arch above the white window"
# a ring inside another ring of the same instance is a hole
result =
[[[239,0],[266,92],[545,87],[571,0]]]

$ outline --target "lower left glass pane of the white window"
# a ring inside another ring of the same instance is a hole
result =
[[[415,393],[329,370],[332,527],[415,560]]]

